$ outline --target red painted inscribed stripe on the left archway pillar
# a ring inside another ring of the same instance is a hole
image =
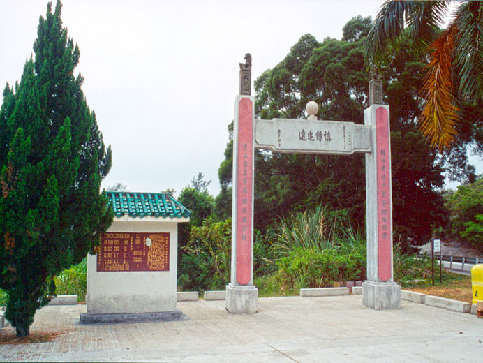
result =
[[[237,147],[237,283],[251,280],[251,238],[253,219],[253,104],[241,98],[238,114]]]

